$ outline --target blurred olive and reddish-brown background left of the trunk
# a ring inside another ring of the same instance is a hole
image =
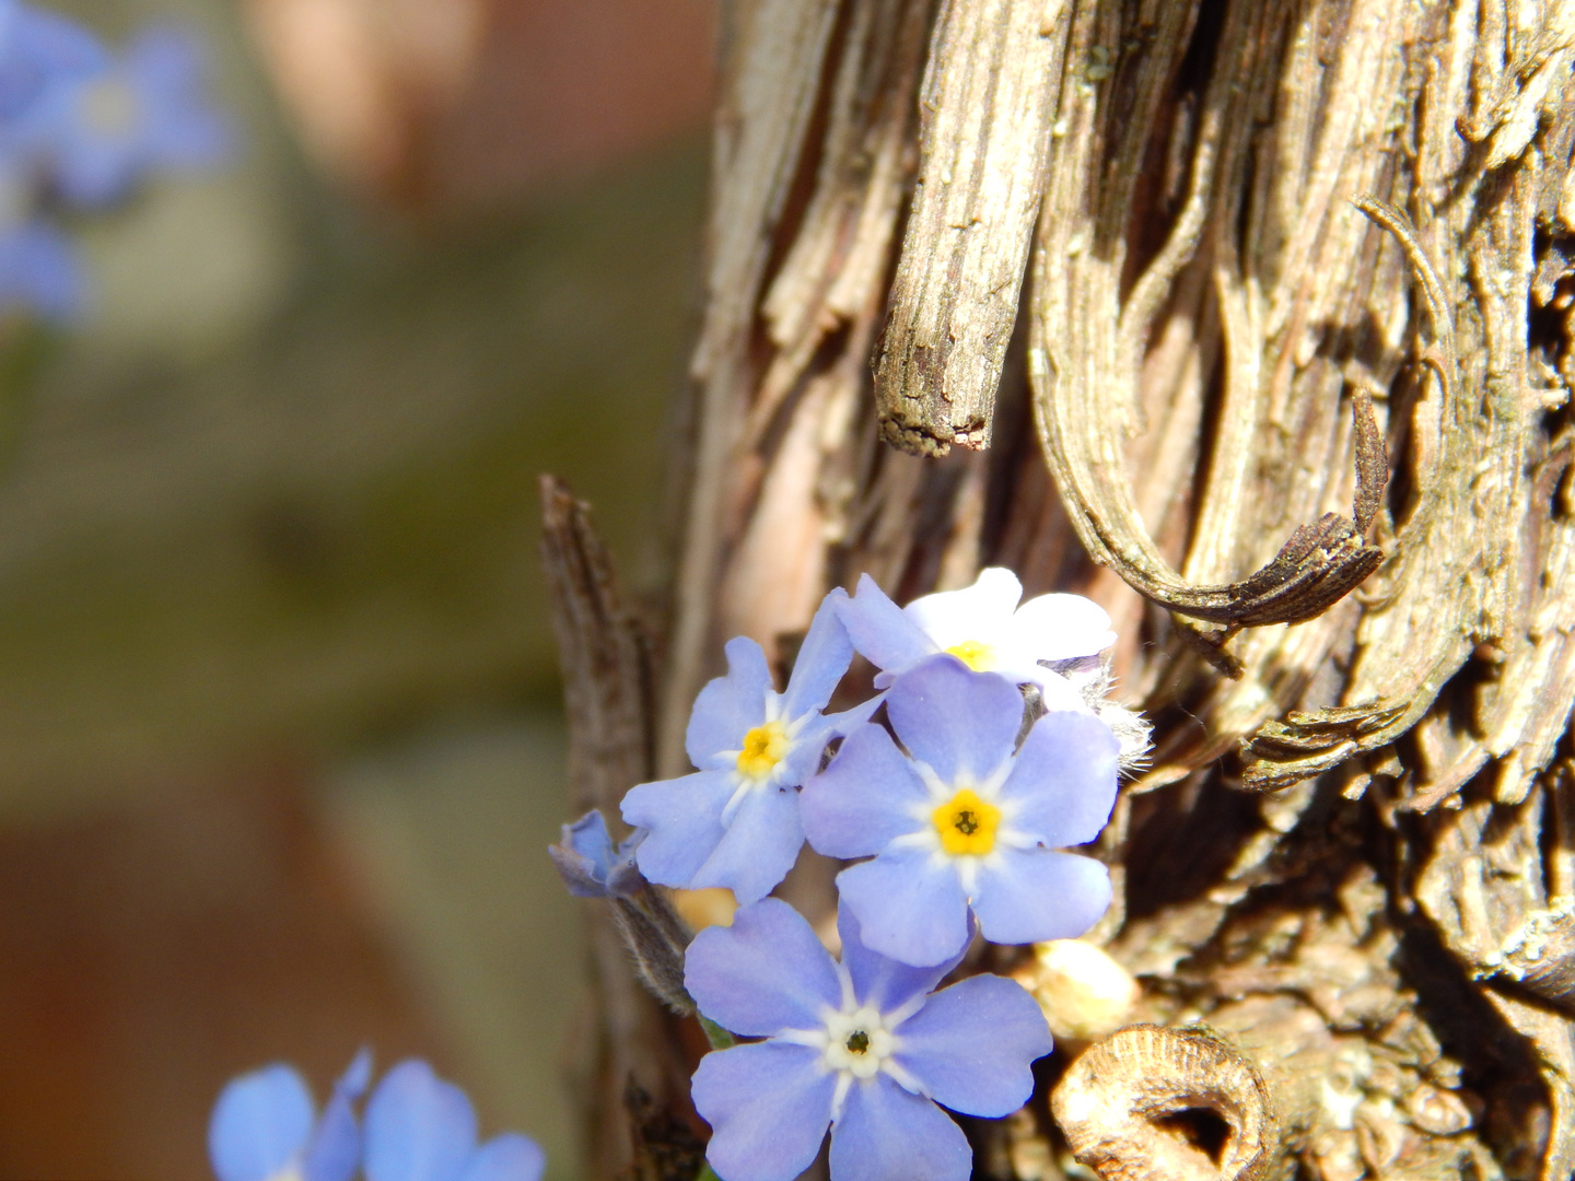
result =
[[[208,1176],[232,1074],[430,1055],[576,1172],[539,471],[636,586],[710,0],[76,0],[246,148],[83,230],[0,417],[0,1176]]]

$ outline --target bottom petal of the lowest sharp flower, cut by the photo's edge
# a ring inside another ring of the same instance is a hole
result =
[[[832,1127],[836,1181],[967,1181],[972,1167],[962,1129],[885,1074],[855,1083]]]

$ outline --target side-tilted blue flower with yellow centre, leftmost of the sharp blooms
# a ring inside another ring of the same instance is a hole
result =
[[[699,770],[643,783],[624,797],[624,820],[650,830],[635,860],[652,882],[728,887],[747,904],[786,877],[803,846],[797,787],[819,768],[832,739],[880,705],[874,698],[846,713],[821,713],[854,658],[836,617],[846,597],[833,590],[821,603],[786,693],[772,688],[759,644],[743,636],[728,642],[728,676],[701,690],[685,735]]]

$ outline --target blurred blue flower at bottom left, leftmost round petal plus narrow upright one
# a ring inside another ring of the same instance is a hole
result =
[[[232,1079],[208,1123],[208,1159],[219,1181],[350,1181],[361,1162],[354,1102],[372,1077],[362,1050],[334,1087],[321,1120],[312,1093],[282,1063]]]

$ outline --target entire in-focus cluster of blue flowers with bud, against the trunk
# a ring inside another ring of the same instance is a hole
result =
[[[783,693],[761,647],[731,641],[690,716],[696,770],[633,787],[617,849],[598,816],[564,830],[575,893],[617,904],[649,879],[740,902],[674,953],[680,1000],[720,1033],[693,1098],[723,1181],[791,1181],[827,1131],[832,1181],[962,1181],[972,1154],[942,1105],[1005,1116],[1028,1099],[1051,1050],[1036,1001],[989,975],[934,989],[975,935],[1036,943],[1099,920],[1109,874],[1066,850],[1104,827],[1147,729],[1102,699],[1106,613],[1021,598],[1000,568],[906,608],[865,576],[827,595]],[[855,652],[873,693],[828,712]],[[852,861],[841,961],[765,898],[805,841]]]

